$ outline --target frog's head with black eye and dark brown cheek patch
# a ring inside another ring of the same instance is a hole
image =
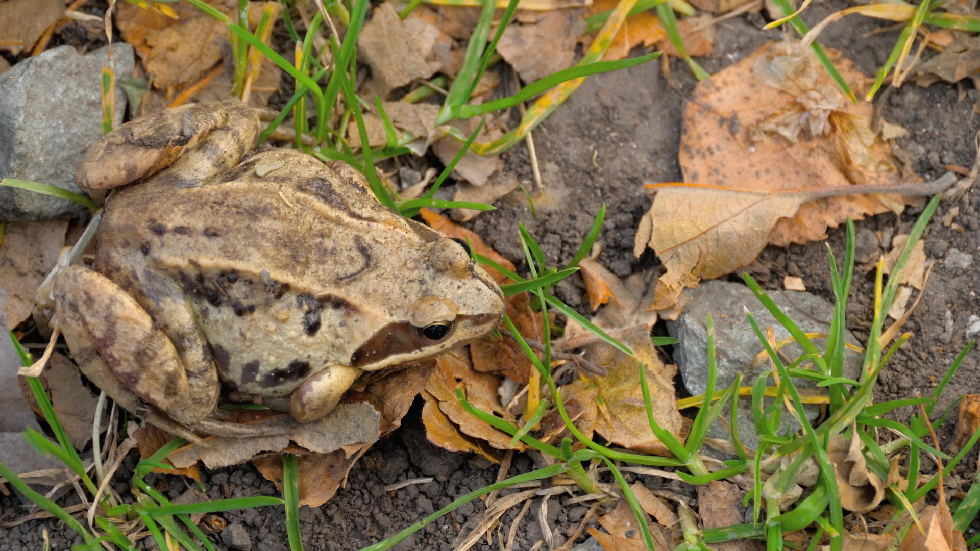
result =
[[[488,333],[504,314],[504,295],[465,246],[439,235],[420,250],[425,276],[410,286],[400,320],[375,332],[351,356],[367,371],[426,358]],[[408,290],[408,288],[407,288]]]

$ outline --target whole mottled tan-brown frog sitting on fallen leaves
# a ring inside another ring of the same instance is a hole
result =
[[[55,277],[58,326],[89,380],[178,435],[317,421],[359,377],[504,314],[465,246],[383,206],[344,162],[253,151],[261,127],[237,101],[188,104],[121,125],[75,171],[105,205],[94,263]],[[222,419],[222,388],[286,398],[287,422]]]

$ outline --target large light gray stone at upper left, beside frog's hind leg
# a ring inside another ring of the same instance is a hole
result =
[[[102,135],[100,75],[108,48],[79,55],[72,46],[61,46],[0,75],[0,176],[80,193],[74,167]],[[132,73],[132,46],[114,44],[113,58],[117,78]],[[125,101],[117,87],[117,122],[123,119]],[[84,210],[67,199],[0,187],[0,220],[69,218]]]

